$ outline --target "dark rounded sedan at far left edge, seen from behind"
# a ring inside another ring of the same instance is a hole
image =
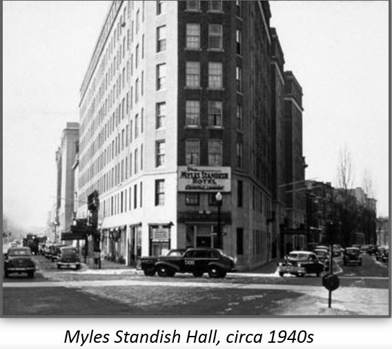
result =
[[[34,277],[35,263],[32,260],[31,250],[28,247],[9,248],[4,259],[4,276],[11,273],[26,272],[28,277]]]

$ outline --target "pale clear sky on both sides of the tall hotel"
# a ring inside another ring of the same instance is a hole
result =
[[[3,2],[3,213],[22,226],[44,226],[55,203],[55,151],[66,122],[79,121],[79,88],[109,6]],[[270,6],[285,70],[304,92],[306,178],[336,185],[346,147],[355,186],[367,169],[378,215],[387,215],[388,2]]]

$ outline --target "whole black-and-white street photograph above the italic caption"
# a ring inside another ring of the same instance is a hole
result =
[[[390,5],[3,1],[1,317],[391,317]]]

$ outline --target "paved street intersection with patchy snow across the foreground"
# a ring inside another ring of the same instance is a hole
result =
[[[57,270],[37,256],[35,279],[3,280],[3,313],[35,315],[387,315],[388,268],[364,255],[363,265],[342,266],[341,287],[328,292],[317,277],[276,272],[233,273],[225,279],[145,277],[132,269]],[[271,266],[271,270],[273,270]]]

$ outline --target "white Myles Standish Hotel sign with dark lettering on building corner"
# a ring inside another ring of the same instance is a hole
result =
[[[179,192],[230,192],[231,168],[179,166]]]

